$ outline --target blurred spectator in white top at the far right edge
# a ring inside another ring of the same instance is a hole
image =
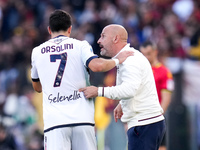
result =
[[[183,102],[189,115],[190,149],[200,148],[200,28],[191,38],[191,47],[183,67]]]

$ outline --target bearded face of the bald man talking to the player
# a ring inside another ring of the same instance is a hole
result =
[[[105,27],[101,33],[101,36],[97,43],[101,48],[100,54],[102,56],[113,57],[112,45],[113,45],[113,33],[110,27]]]

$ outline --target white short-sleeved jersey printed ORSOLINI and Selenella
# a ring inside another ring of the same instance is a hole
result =
[[[33,49],[31,77],[42,85],[45,130],[94,124],[94,103],[78,90],[90,84],[86,68],[96,57],[88,42],[65,36]]]

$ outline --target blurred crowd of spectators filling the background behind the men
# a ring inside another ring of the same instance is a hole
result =
[[[136,49],[146,40],[156,42],[160,60],[174,75],[185,75],[185,104],[193,101],[191,112],[200,107],[200,0],[0,0],[0,149],[42,149],[42,99],[31,86],[30,59],[32,49],[50,38],[54,9],[71,14],[71,37],[87,40],[97,55],[107,24],[123,25]],[[97,76],[92,83],[102,84],[106,74]]]

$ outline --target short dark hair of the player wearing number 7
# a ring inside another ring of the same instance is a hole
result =
[[[71,16],[63,10],[55,10],[49,18],[49,27],[52,32],[66,31],[71,25]]]

